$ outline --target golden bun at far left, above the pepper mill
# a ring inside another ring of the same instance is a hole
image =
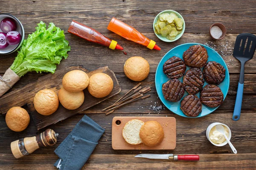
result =
[[[13,107],[6,113],[6,124],[15,132],[25,130],[29,125],[29,121],[29,113],[23,108]]]

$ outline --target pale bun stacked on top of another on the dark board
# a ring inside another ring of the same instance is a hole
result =
[[[89,77],[84,71],[72,70],[64,75],[62,85],[67,91],[79,92],[87,88]]]

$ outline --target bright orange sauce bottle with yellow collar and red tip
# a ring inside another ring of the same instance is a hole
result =
[[[149,40],[135,28],[123,23],[122,21],[112,18],[108,24],[108,30],[113,31],[114,33],[124,37],[127,40],[137,42],[139,44],[145,45],[149,49],[161,50],[160,47],[156,45],[156,42]]]

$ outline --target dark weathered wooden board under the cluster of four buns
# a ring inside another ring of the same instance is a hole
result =
[[[59,107],[55,113],[52,113],[49,116],[44,116],[39,114],[34,107],[33,99],[35,94],[42,90],[42,89],[51,89],[55,91],[58,94],[59,89],[62,87],[62,78],[63,76],[72,70],[81,70],[87,73],[87,75],[90,77],[93,74],[96,73],[105,73],[108,74],[112,80],[113,80],[113,90],[111,91],[111,94],[109,94],[106,97],[103,98],[96,98],[89,94],[87,88],[84,89],[84,103],[77,108],[76,110],[68,110],[64,108],[61,103],[59,104]],[[119,83],[116,79],[115,74],[113,71],[111,71],[107,66],[98,68],[93,71],[87,71],[82,66],[70,66],[67,68],[64,68],[62,70],[55,71],[54,74],[47,74],[46,76],[40,77],[37,81],[32,82],[23,88],[20,88],[16,91],[13,91],[9,94],[6,94],[0,98],[0,113],[6,113],[10,108],[14,106],[23,106],[28,105],[29,113],[31,113],[32,118],[35,122],[35,125],[37,129],[41,129],[43,127],[46,127],[48,125],[52,125],[54,123],[57,123],[61,120],[67,119],[70,116],[73,116],[81,111],[86,110],[87,108],[90,108],[105,99],[110,98],[111,96],[114,96],[118,94],[121,91],[121,88],[119,87]]]

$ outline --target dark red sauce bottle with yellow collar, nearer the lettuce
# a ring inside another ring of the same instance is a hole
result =
[[[105,37],[98,31],[96,31],[93,28],[90,28],[88,26],[85,26],[75,20],[72,21],[70,24],[70,27],[68,28],[68,32],[75,34],[84,40],[90,41],[90,42],[96,42],[101,45],[105,45],[112,50],[117,49],[117,50],[123,50],[120,45],[117,44],[116,41],[110,40],[109,38]]]

